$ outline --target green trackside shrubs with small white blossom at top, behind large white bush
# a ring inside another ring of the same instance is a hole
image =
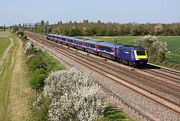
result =
[[[34,47],[31,42],[27,42],[24,52],[27,55],[27,66],[32,75],[30,85],[36,91],[42,91],[44,87],[44,80],[48,74],[55,70],[62,70],[64,66],[46,52]]]

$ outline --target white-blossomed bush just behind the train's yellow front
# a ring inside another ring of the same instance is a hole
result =
[[[136,39],[134,42],[147,50],[149,61],[152,62],[163,62],[170,53],[167,43],[159,41],[156,36],[147,35]]]

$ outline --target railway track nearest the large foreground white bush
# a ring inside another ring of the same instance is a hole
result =
[[[32,37],[32,36],[31,36]],[[118,82],[118,83],[121,83],[122,85],[140,93],[141,95],[144,95],[145,97],[148,97],[149,99],[151,100],[154,100],[156,102],[158,102],[159,104],[177,112],[177,113],[180,113],[180,107],[179,107],[179,104],[176,104],[162,96],[159,96],[159,95],[156,95],[156,94],[153,94],[152,92],[146,90],[146,89],[142,89],[141,87],[139,87],[138,85],[135,85],[133,83],[130,83],[128,82],[127,80],[123,80],[122,78],[120,78],[119,76],[117,76],[116,74],[113,74],[113,73],[110,73],[109,71],[101,68],[100,66],[95,66],[94,64],[92,64],[92,60],[90,60],[89,62],[87,61],[88,58],[82,58],[80,55],[75,55],[75,53],[71,52],[69,53],[69,50],[63,50],[62,48],[60,49],[60,47],[58,46],[55,46],[57,45],[56,43],[53,43],[53,42],[47,42],[45,40],[45,38],[41,38],[39,36],[35,36],[33,35],[33,38],[35,40],[38,40],[40,41],[41,43],[45,44],[45,45],[48,45],[49,47],[53,48],[54,50],[64,54],[65,56],[68,56],[69,58],[71,59],[75,59],[76,61],[78,61],[79,63],[81,63],[82,65],[85,65],[89,68],[91,68],[92,70],[95,70],[96,72],[98,73],[101,73],[102,75],[108,77],[108,78],[111,78],[112,80]],[[51,43],[51,44],[49,44]],[[95,63],[95,62],[94,62]],[[96,63],[97,64],[97,63]],[[102,63],[101,63],[102,64]],[[99,65],[99,63],[98,63]],[[107,65],[107,64],[106,64]],[[110,68],[110,67],[108,67]],[[112,69],[112,67],[111,67]]]

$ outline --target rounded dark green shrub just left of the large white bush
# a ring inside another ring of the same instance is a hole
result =
[[[47,77],[47,73],[44,69],[37,69],[33,72],[30,85],[36,91],[42,90],[44,87],[44,80]]]

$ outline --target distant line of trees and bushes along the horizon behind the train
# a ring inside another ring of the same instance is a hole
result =
[[[48,25],[45,28],[45,25]],[[33,28],[35,32],[45,32],[63,34],[68,36],[143,36],[143,35],[163,35],[174,36],[180,35],[180,23],[172,24],[119,24],[119,23],[103,23],[100,20],[98,22],[89,22],[84,20],[83,22],[63,23],[59,21],[57,24],[49,25],[49,22],[43,20]]]

